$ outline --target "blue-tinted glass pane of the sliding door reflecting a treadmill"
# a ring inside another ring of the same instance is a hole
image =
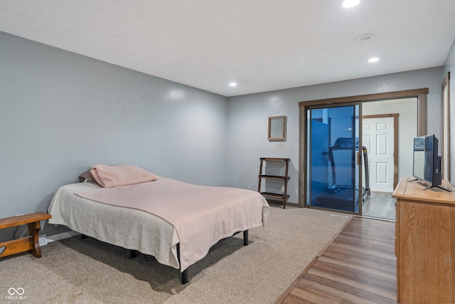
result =
[[[310,208],[361,213],[359,111],[360,104],[307,111]]]

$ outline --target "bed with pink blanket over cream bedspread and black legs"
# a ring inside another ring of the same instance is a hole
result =
[[[125,176],[121,179],[128,180]],[[247,245],[248,230],[264,225],[269,214],[262,195],[247,189],[156,176],[148,182],[120,184],[100,187],[80,182],[60,187],[50,202],[49,224],[154,256],[159,263],[179,269],[182,283],[188,283],[188,267],[211,246],[239,232]]]

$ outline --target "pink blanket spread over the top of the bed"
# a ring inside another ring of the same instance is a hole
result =
[[[258,192],[173,179],[75,194],[103,204],[146,211],[168,221],[178,234],[182,272],[203,258],[220,239],[261,226],[269,214],[269,205]]]

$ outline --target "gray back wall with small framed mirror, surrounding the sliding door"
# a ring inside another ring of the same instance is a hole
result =
[[[429,88],[428,133],[440,135],[442,68],[324,83],[228,98],[227,183],[255,189],[259,157],[289,157],[289,202],[299,200],[299,102],[352,95]],[[267,117],[286,115],[286,142],[267,140]],[[439,118],[439,119],[438,119]]]

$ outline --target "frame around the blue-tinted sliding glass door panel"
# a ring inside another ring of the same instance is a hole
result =
[[[306,108],[306,111],[305,111],[305,121],[306,121],[306,126],[305,126],[305,135],[306,135],[306,139],[305,139],[305,142],[304,142],[304,146],[305,146],[305,151],[308,151],[309,154],[306,153],[306,157],[305,157],[305,162],[306,162],[306,174],[305,175],[305,182],[304,182],[304,187],[305,189],[309,189],[309,182],[311,181],[311,168],[309,167],[309,161],[311,159],[311,142],[309,140],[309,133],[311,132],[311,121],[309,120],[311,117],[311,115],[309,114],[311,112],[311,110],[317,110],[317,109],[324,109],[324,108],[339,108],[339,107],[355,107],[355,106],[358,106],[358,116],[357,117],[353,117],[353,124],[355,124],[355,120],[357,120],[357,128],[358,128],[358,154],[357,154],[357,160],[358,160],[358,164],[357,164],[357,174],[358,174],[358,181],[357,181],[357,189],[358,189],[358,212],[355,212],[355,211],[343,211],[343,210],[337,210],[337,209],[328,209],[328,208],[322,208],[322,207],[319,207],[319,206],[310,206],[308,204],[308,201],[309,201],[309,191],[308,190],[305,190],[304,192],[304,206],[306,207],[309,207],[311,209],[321,209],[321,210],[330,210],[330,211],[333,211],[333,212],[341,212],[341,213],[344,213],[344,214],[354,214],[354,215],[359,215],[361,216],[362,215],[362,191],[363,191],[363,186],[362,186],[362,174],[363,174],[363,170],[362,170],[362,165],[363,165],[363,154],[361,153],[361,147],[362,147],[362,102],[358,101],[358,102],[352,102],[352,103],[336,103],[336,104],[330,104],[330,105],[309,105],[308,107],[305,107]],[[354,186],[354,187],[355,187]],[[311,192],[311,191],[310,191]]]

